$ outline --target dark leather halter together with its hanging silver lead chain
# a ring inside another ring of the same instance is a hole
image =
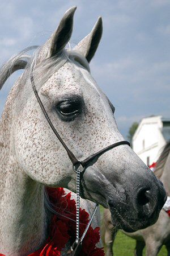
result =
[[[33,88],[33,92],[35,93],[35,96],[37,98],[37,101],[39,102],[39,105],[42,109],[42,112],[45,115],[46,120],[48,121],[50,127],[52,128],[54,134],[56,135],[56,137],[58,138],[58,140],[61,142],[62,146],[65,148],[67,155],[69,156],[71,162],[73,163],[73,170],[76,172],[76,240],[73,243],[73,245],[71,246],[71,251],[68,252],[70,256],[78,256],[80,253],[80,250],[82,248],[82,241],[84,236],[86,235],[86,232],[91,224],[92,218],[95,215],[96,209],[98,207],[98,204],[96,204],[96,207],[94,209],[94,212],[92,213],[91,219],[88,222],[88,225],[86,227],[86,229],[84,230],[83,236],[82,238],[79,239],[79,208],[80,208],[80,193],[82,194],[82,197],[84,197],[84,192],[83,192],[83,187],[86,189],[88,196],[90,197],[90,199],[92,200],[92,197],[87,189],[86,183],[83,179],[83,173],[84,171],[86,171],[86,168],[89,165],[94,164],[97,159],[99,158],[99,156],[103,155],[105,152],[107,152],[108,150],[111,150],[114,147],[123,145],[123,144],[127,144],[130,146],[130,143],[128,141],[120,141],[120,142],[116,142],[111,144],[110,146],[107,146],[103,149],[101,149],[100,151],[96,152],[95,154],[92,154],[90,156],[88,156],[88,158],[79,161],[78,159],[76,159],[75,155],[73,154],[73,152],[69,149],[69,147],[66,146],[65,142],[62,140],[62,138],[60,137],[60,135],[58,134],[57,130],[55,129],[55,127],[53,126],[53,123],[50,121],[50,118],[48,116],[48,114],[46,113],[46,110],[44,108],[44,105],[42,104],[42,101],[39,97],[39,94],[37,93],[36,90],[36,86],[35,86],[35,82],[33,80],[33,67],[32,67],[32,71],[31,71],[31,84],[32,84],[32,88]],[[83,185],[82,185],[83,183]],[[80,189],[80,185],[81,188]]]

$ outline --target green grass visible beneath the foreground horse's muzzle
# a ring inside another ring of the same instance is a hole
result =
[[[103,214],[103,207],[100,207],[101,216]],[[102,219],[102,218],[101,218]],[[135,249],[135,240],[126,236],[122,232],[118,232],[116,240],[114,241],[114,256],[133,256]],[[146,256],[146,250],[143,251],[143,256]],[[159,251],[158,256],[167,256],[167,249],[165,246]]]

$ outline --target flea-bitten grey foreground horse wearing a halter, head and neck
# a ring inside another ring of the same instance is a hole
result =
[[[32,57],[23,51],[0,72],[2,88],[10,73],[24,69],[0,123],[0,253],[5,255],[28,255],[46,241],[51,214],[44,205],[44,186],[76,191],[73,164],[46,122],[31,75],[50,120],[77,159],[123,139],[114,107],[88,64],[101,38],[101,18],[73,51],[65,49],[75,9],[65,13]],[[114,225],[129,232],[153,224],[166,200],[163,185],[128,145],[94,158],[83,179],[88,189],[84,197],[109,207]]]

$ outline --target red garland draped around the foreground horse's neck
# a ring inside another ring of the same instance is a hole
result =
[[[66,243],[75,241],[75,219],[76,204],[71,199],[71,192],[66,194],[63,188],[46,188],[51,203],[58,214],[53,214],[50,224],[50,234],[45,245],[28,256],[60,256]],[[74,220],[74,221],[73,221]],[[80,209],[80,236],[89,221],[89,214]],[[87,231],[82,243],[81,256],[104,256],[103,248],[97,248],[96,243],[100,240],[100,228],[93,229],[91,226]],[[0,256],[5,256],[0,254]]]

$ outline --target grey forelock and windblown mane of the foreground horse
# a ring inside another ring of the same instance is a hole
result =
[[[28,52],[33,50],[35,50],[33,54],[28,55]],[[39,89],[50,78],[50,76],[57,72],[58,69],[66,63],[66,61],[74,64],[80,64],[90,72],[90,67],[86,57],[84,57],[79,51],[63,49],[57,55],[39,61],[40,52],[41,47],[39,46],[27,47],[6,61],[6,63],[4,63],[0,68],[0,90],[12,73],[19,69],[27,69],[28,71],[25,75],[23,74],[22,77],[24,84],[25,80],[29,79],[28,76],[33,69],[33,76],[35,77],[37,89]]]

